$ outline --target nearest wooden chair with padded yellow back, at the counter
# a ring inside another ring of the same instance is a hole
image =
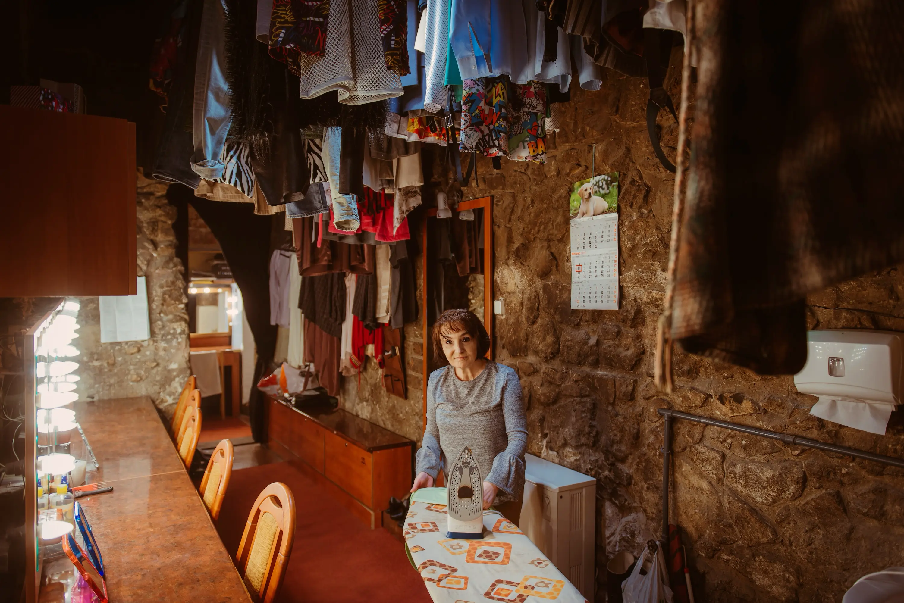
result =
[[[251,507],[241,535],[236,565],[259,603],[276,598],[295,540],[295,497],[288,486],[275,482],[264,488]]]

